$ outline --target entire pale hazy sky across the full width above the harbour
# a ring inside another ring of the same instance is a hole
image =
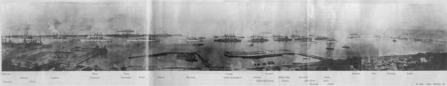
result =
[[[117,29],[138,28],[140,33],[184,35],[298,32],[344,37],[396,28],[445,30],[447,26],[446,1],[3,1],[1,7],[2,31],[16,34],[89,34],[95,29],[115,33]]]

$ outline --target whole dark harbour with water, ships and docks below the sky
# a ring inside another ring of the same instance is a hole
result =
[[[64,35],[67,36],[67,35]],[[446,70],[446,44],[393,37],[281,37],[287,41],[252,42],[250,37],[182,36],[105,37],[108,42],[47,41],[24,46],[19,37],[2,37],[3,71],[354,71]],[[4,39],[6,38],[6,39]],[[10,40],[11,39],[11,40]],[[277,40],[278,37],[265,37]],[[297,40],[298,39],[298,40]],[[306,39],[315,39],[306,37]],[[216,41],[220,40],[220,41]],[[237,40],[225,41],[225,40]],[[200,44],[200,46],[198,46]],[[329,49],[328,49],[329,48]],[[431,52],[431,53],[429,53]],[[420,54],[418,54],[420,53]],[[421,54],[426,53],[426,54]]]

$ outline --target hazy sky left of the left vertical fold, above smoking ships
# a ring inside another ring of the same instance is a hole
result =
[[[146,6],[144,1],[4,1],[0,25],[11,34],[91,34],[94,30],[105,34],[123,28],[144,32]]]

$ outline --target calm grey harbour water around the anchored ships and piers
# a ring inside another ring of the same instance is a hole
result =
[[[359,39],[336,39],[339,42],[326,43],[318,42],[316,44],[300,42],[275,42],[269,37],[269,42],[254,43],[254,46],[248,46],[251,42],[249,38],[242,39],[242,42],[213,42],[212,36],[206,37],[203,46],[194,46],[193,42],[185,42],[185,37],[158,37],[161,42],[126,42],[121,37],[109,37],[112,42],[46,42],[52,44],[50,51],[57,51],[73,46],[94,47],[106,46],[107,55],[100,55],[97,58],[87,60],[83,65],[98,65],[103,69],[109,69],[113,65],[124,67],[132,64],[127,58],[135,55],[147,55],[148,53],[159,53],[164,51],[199,51],[212,66],[230,67],[240,69],[253,67],[256,62],[274,61],[276,65],[288,65],[292,62],[317,62],[316,59],[309,59],[300,55],[285,55],[281,57],[261,58],[261,59],[242,59],[228,58],[223,55],[223,51],[258,51],[258,50],[279,50],[287,49],[291,51],[307,52],[312,55],[319,55],[332,59],[346,59],[351,56],[367,55],[404,55],[426,52],[446,52],[446,43],[440,42],[416,42],[414,40],[397,40],[393,42],[391,38],[359,38]],[[82,39],[76,38],[76,39]],[[349,46],[344,49],[342,46]],[[326,47],[332,47],[334,50],[327,50]]]

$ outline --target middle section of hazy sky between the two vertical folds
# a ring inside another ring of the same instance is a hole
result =
[[[240,35],[306,28],[306,1],[158,0],[152,8],[156,33]]]

